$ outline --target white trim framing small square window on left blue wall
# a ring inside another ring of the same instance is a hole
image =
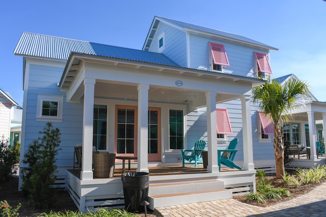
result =
[[[37,111],[36,111],[36,121],[52,121],[52,122],[62,122],[63,115],[63,95],[37,95]],[[58,102],[58,114],[57,116],[43,116],[42,108],[43,101]]]

